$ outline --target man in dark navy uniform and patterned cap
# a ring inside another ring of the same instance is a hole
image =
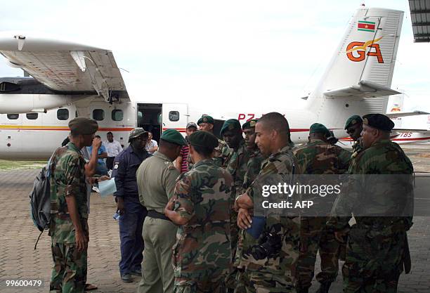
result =
[[[143,259],[142,227],[146,209],[139,202],[136,171],[144,159],[150,157],[145,150],[148,132],[135,128],[129,135],[129,147],[119,153],[114,160],[112,177],[115,177],[117,191],[117,211],[119,216],[119,237],[121,240],[121,260],[119,273],[123,282],[133,282],[131,275],[141,276]]]

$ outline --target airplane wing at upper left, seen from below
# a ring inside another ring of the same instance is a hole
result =
[[[103,48],[3,33],[0,53],[53,91],[96,92],[107,102],[112,92],[126,93],[112,51]]]

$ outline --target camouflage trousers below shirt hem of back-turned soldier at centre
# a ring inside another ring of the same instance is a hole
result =
[[[175,280],[174,293],[226,293],[226,275],[213,275],[213,278],[195,280]]]

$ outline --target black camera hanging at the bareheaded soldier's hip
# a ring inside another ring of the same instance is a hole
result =
[[[279,233],[265,232],[259,237],[259,244],[252,247],[251,254],[254,259],[259,261],[260,259],[271,258],[279,254],[282,248],[282,237]]]

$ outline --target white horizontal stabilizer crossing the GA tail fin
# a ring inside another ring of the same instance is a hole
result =
[[[357,85],[325,91],[324,96],[327,96],[327,98],[377,98],[398,93],[398,91],[390,89],[388,86],[362,80]]]

